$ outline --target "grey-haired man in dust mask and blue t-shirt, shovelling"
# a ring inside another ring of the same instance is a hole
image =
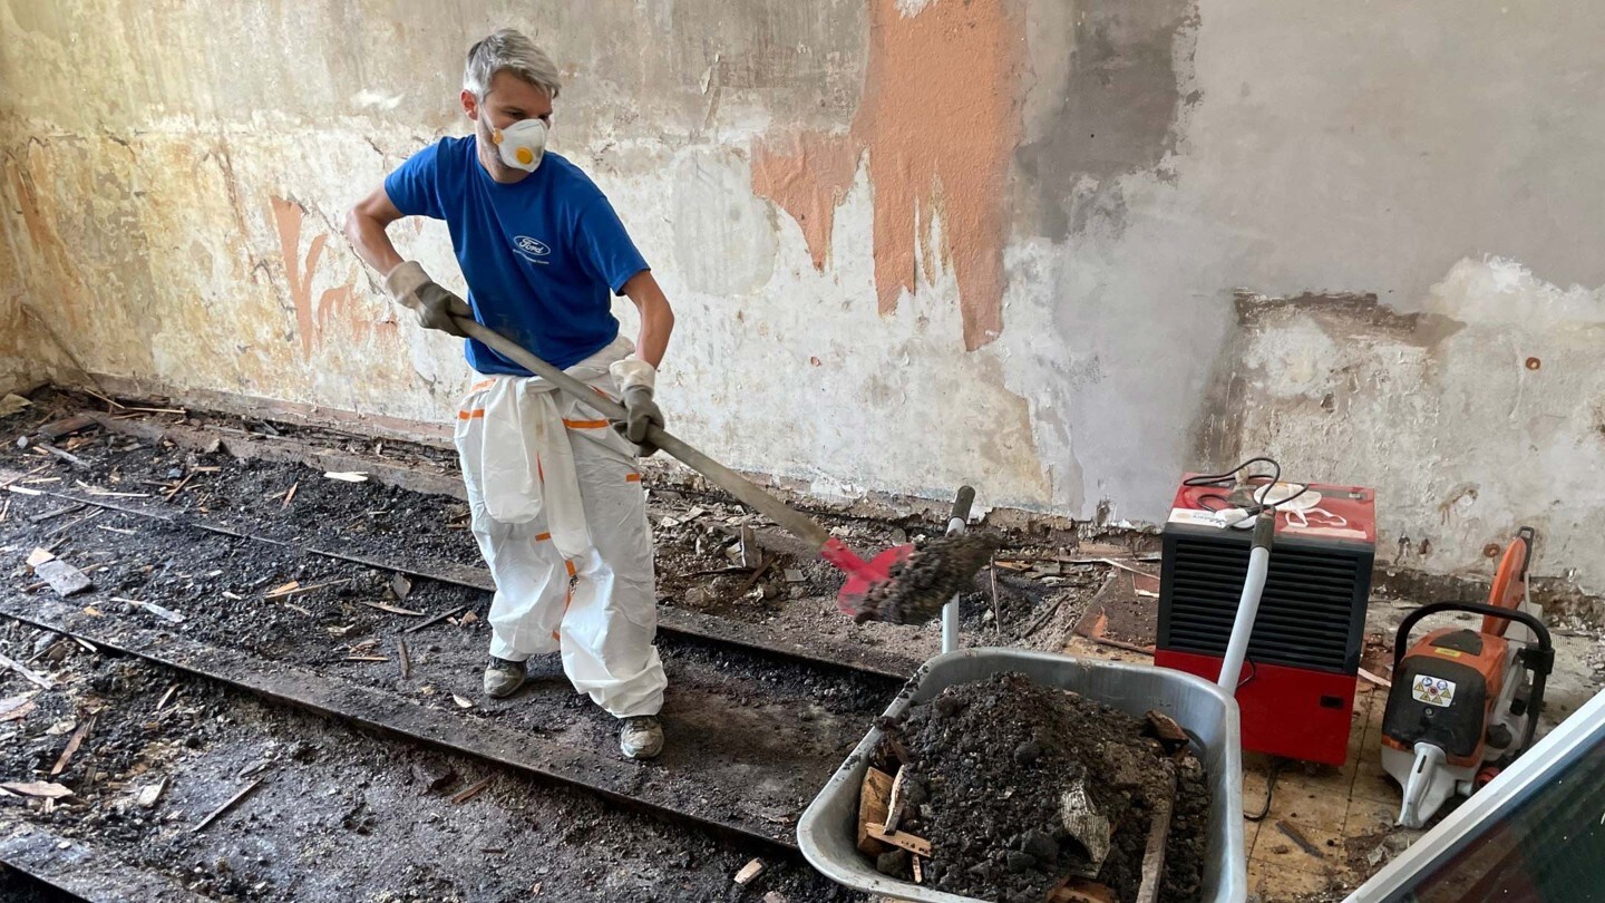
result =
[[[589,407],[490,347],[467,360],[488,376],[457,411],[456,442],[473,537],[496,578],[485,693],[510,696],[531,656],[562,652],[578,693],[621,720],[631,758],[663,750],[656,715],[668,683],[653,646],[652,537],[636,456],[663,424],[653,378],[674,313],[602,191],[546,153],[557,67],[517,31],[469,50],[467,138],[419,151],[347,217],[356,252],[419,323],[454,336],[472,317],[536,357],[623,400],[626,423]],[[406,215],[446,220],[469,299],[403,260],[385,228]],[[640,310],[636,344],[610,304]]]

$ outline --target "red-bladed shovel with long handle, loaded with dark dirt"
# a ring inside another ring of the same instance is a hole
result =
[[[534,357],[501,333],[464,317],[453,320],[470,339],[490,345],[504,358],[595,408],[607,419],[618,423],[626,418],[624,405]],[[648,427],[647,442],[672,455],[743,505],[806,541],[820,558],[846,574],[847,580],[841,586],[841,593],[836,595],[836,607],[855,622],[923,623],[936,617],[942,604],[963,585],[973,582],[981,566],[990,559],[992,540],[981,533],[965,533],[937,538],[920,551],[915,551],[913,545],[892,546],[865,561],[812,517],[758,488],[742,474],[703,455],[668,431],[656,426]]]

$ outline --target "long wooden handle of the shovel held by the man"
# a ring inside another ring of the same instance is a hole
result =
[[[546,379],[552,386],[557,386],[563,392],[568,392],[576,400],[595,408],[602,416],[610,421],[623,421],[626,418],[624,405],[620,405],[613,398],[597,392],[591,386],[575,379],[573,376],[563,373],[562,370],[546,363],[544,360],[534,357],[528,350],[518,347],[517,342],[507,339],[501,333],[483,326],[473,320],[464,317],[453,318],[462,333],[490,345],[491,350],[502,355],[504,358],[517,363],[518,366],[528,370],[530,373]],[[780,501],[774,495],[758,488],[758,485],[743,477],[742,474],[725,468],[719,461],[714,461],[708,455],[703,455],[687,442],[671,435],[668,431],[658,426],[647,427],[647,442],[656,445],[658,448],[668,452],[674,458],[681,460],[687,468],[697,471],[698,474],[708,477],[714,485],[729,492],[743,505],[756,509],[764,517],[769,517],[778,524],[788,533],[807,541],[815,550],[822,550],[827,541],[830,541],[830,532],[819,525],[812,517],[793,509],[785,501]]]

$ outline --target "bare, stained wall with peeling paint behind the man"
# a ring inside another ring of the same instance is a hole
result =
[[[0,0],[6,284],[100,373],[445,419],[454,344],[335,223],[462,132],[501,24],[562,66],[554,149],[732,464],[1141,522],[1268,452],[1375,485],[1385,558],[1533,522],[1605,588],[1597,5]]]

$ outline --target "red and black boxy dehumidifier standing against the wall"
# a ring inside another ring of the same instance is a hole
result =
[[[1254,530],[1225,522],[1220,485],[1188,480],[1164,529],[1154,664],[1215,681],[1223,678]],[[1329,765],[1348,758],[1375,546],[1369,488],[1310,484],[1276,511],[1236,689],[1242,749]]]

